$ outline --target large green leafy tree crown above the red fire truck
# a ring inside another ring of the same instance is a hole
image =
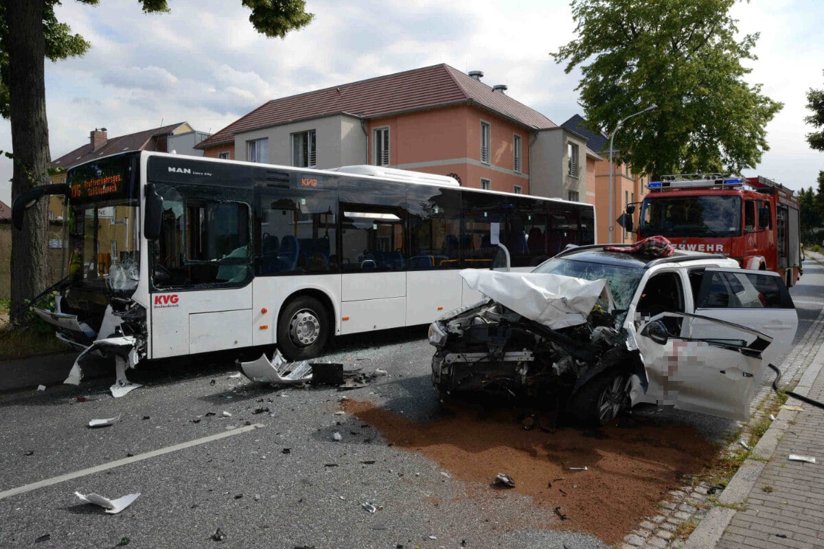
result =
[[[553,54],[580,66],[580,103],[591,128],[616,133],[639,174],[739,172],[769,149],[766,123],[783,105],[743,77],[758,35],[735,39],[735,0],[573,0],[578,38]]]

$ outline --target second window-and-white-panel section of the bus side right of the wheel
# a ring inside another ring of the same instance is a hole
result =
[[[409,259],[406,324],[430,323],[461,306],[461,191],[406,186]]]

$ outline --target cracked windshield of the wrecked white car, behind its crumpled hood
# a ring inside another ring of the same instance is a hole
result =
[[[618,309],[630,305],[638,281],[644,275],[644,268],[615,263],[597,263],[584,258],[553,258],[541,263],[534,272],[550,272],[565,277],[583,278],[584,280],[601,280],[609,282],[612,299]]]

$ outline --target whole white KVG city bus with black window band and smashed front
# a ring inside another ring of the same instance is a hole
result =
[[[371,174],[370,174],[371,173]],[[68,170],[68,277],[40,315],[78,350],[143,359],[277,345],[316,356],[333,334],[432,322],[479,299],[458,276],[592,244],[592,205],[461,188],[375,166],[307,170],[156,152]],[[91,348],[90,348],[91,347]]]

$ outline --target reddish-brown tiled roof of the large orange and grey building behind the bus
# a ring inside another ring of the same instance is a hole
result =
[[[446,105],[475,105],[531,128],[555,128],[543,114],[447,64],[397,72],[271,100],[237,119],[195,147],[231,142],[236,133],[269,128],[297,120],[349,113],[380,118]]]

